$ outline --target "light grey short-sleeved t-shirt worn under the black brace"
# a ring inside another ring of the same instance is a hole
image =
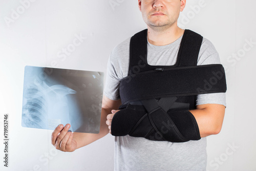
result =
[[[128,38],[117,45],[108,61],[104,95],[118,100],[119,82],[129,70]],[[175,65],[182,36],[172,44],[154,46],[147,43],[147,62],[152,66]],[[203,38],[198,65],[220,63],[219,54],[211,42]],[[196,104],[216,103],[226,106],[225,93],[202,94]],[[151,141],[129,135],[115,137],[114,170],[206,170],[206,138],[198,141],[173,143]]]

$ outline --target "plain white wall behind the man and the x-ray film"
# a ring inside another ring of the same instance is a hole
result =
[[[0,156],[5,113],[10,126],[9,167],[1,157],[1,170],[113,170],[111,135],[63,153],[51,145],[52,131],[21,126],[24,67],[105,72],[112,49],[146,28],[137,6],[136,0],[0,0]],[[221,133],[208,137],[208,170],[256,170],[255,6],[250,0],[188,0],[179,19],[182,28],[215,45],[226,69],[226,114]],[[63,55],[77,35],[86,38]]]

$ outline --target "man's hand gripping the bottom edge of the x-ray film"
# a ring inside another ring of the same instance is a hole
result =
[[[74,134],[68,132],[70,129],[70,124],[66,124],[63,128],[62,124],[59,124],[52,133],[52,144],[56,149],[62,152],[73,152],[77,147],[77,142],[73,138]]]

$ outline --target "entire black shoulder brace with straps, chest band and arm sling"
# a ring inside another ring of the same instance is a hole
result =
[[[197,121],[188,110],[195,109],[198,94],[226,92],[224,68],[220,64],[197,66],[202,36],[190,30],[184,32],[174,66],[150,66],[146,33],[131,38],[129,76],[120,82],[122,105],[112,119],[112,135],[199,140]]]

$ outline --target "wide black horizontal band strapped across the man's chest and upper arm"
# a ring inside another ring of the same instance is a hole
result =
[[[120,81],[122,104],[151,98],[226,92],[222,65],[203,65],[147,71]]]

